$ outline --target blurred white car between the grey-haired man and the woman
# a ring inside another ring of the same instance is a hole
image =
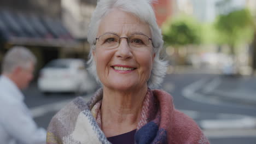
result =
[[[85,69],[83,59],[55,59],[40,70],[38,88],[49,92],[92,92],[96,82]]]

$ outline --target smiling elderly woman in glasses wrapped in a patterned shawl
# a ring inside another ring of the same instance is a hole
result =
[[[89,26],[90,71],[101,83],[50,122],[47,143],[209,143],[197,124],[174,109],[160,85],[161,31],[149,0],[101,0]]]

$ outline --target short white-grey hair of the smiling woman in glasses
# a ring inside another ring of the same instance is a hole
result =
[[[131,13],[137,16],[141,21],[148,23],[150,27],[150,32],[152,34],[153,41],[153,52],[155,53],[155,58],[153,62],[153,69],[151,75],[147,82],[149,88],[156,88],[160,86],[162,79],[166,75],[167,61],[164,61],[162,56],[160,56],[160,51],[164,44],[161,35],[161,29],[156,23],[156,18],[154,10],[152,8],[153,0],[101,0],[98,1],[96,9],[91,17],[91,22],[88,31],[88,41],[90,44],[89,53],[89,71],[94,75],[95,79],[100,82],[96,73],[96,63],[92,56],[92,51],[96,49],[96,37],[98,32],[98,27],[100,26],[101,19],[105,17],[110,10],[120,9],[127,13]]]

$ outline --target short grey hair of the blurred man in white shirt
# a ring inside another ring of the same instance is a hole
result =
[[[36,64],[37,60],[30,50],[24,46],[14,46],[3,58],[2,73],[11,73],[18,66],[28,68],[31,62]]]

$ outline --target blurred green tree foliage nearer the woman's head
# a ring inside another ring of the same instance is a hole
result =
[[[200,24],[187,16],[167,21],[162,27],[165,43],[174,47],[199,44],[201,42],[200,30]]]

